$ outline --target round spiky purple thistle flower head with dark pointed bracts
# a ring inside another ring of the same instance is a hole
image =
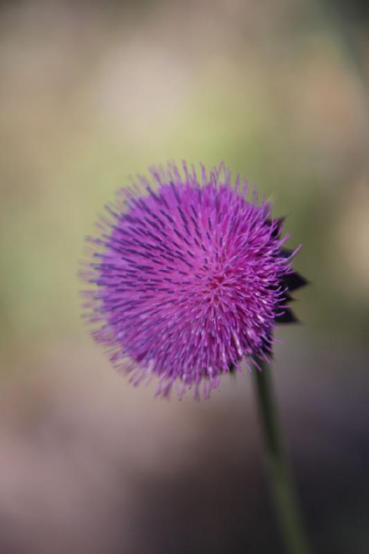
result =
[[[222,164],[208,174],[183,163],[150,170],[105,206],[99,237],[87,238],[84,316],[118,369],[158,393],[205,397],[223,373],[272,354],[273,328],[295,321],[289,291],[305,280],[283,248],[283,220],[271,218],[246,182]]]

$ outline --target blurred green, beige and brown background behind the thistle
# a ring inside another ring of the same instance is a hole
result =
[[[0,5],[1,554],[282,553],[248,373],[154,400],[80,319],[84,235],[130,174],[224,160],[312,285],[273,378],[313,551],[369,551],[365,1]]]

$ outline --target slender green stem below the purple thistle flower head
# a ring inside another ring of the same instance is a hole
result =
[[[267,447],[267,470],[271,494],[276,507],[280,533],[288,554],[309,554],[310,549],[278,428],[269,367],[267,364],[262,364],[262,370],[255,369],[253,373]]]

